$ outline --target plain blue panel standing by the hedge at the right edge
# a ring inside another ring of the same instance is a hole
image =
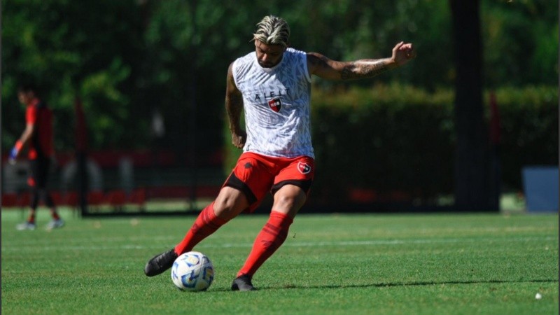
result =
[[[558,167],[523,168],[527,211],[558,211]]]

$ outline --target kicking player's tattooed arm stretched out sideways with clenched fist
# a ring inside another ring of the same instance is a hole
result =
[[[372,78],[387,70],[406,64],[416,57],[411,43],[400,42],[393,48],[393,55],[384,59],[360,59],[338,62],[316,52],[307,54],[309,73],[329,80]]]

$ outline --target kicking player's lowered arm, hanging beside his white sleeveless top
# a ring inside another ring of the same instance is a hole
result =
[[[232,72],[233,63],[228,68],[228,78],[225,88],[225,110],[230,120],[230,132],[232,133],[232,144],[237,148],[243,148],[247,138],[245,130],[241,130],[241,112],[243,111],[243,95],[237,89]]]

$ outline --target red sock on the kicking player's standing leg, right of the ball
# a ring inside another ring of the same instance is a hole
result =
[[[253,249],[245,265],[237,276],[247,274],[253,276],[257,269],[278,249],[288,237],[288,229],[293,219],[277,211],[270,213],[270,218],[255,239]]]

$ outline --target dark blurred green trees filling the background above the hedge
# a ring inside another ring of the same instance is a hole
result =
[[[316,80],[317,90],[396,81],[437,98],[454,81],[447,1],[1,3],[4,151],[24,127],[15,89],[27,81],[41,87],[55,110],[59,151],[73,148],[75,97],[83,100],[92,148],[220,148],[228,64],[253,50],[251,34],[267,14],[288,20],[293,47],[332,59],[387,57],[399,41],[419,51],[398,71],[352,83]],[[557,85],[556,1],[486,0],[480,10],[487,87]],[[401,95],[393,106],[414,104],[411,95]],[[155,111],[165,118],[163,137],[151,130]]]

